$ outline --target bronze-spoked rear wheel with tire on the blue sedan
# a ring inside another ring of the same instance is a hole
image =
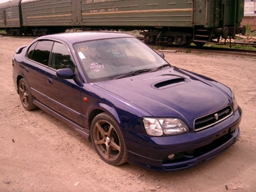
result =
[[[20,79],[18,89],[19,89],[19,95],[20,95],[20,102],[22,103],[23,107],[27,111],[31,111],[37,108],[37,106],[33,104],[34,97],[30,93],[28,83],[24,78]]]

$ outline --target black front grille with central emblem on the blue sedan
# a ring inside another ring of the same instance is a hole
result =
[[[230,106],[227,106],[226,108],[222,108],[221,110],[215,111],[212,114],[207,114],[206,116],[199,117],[194,121],[194,130],[204,130],[209,126],[215,125],[216,123],[227,119],[227,117],[230,117],[232,114],[232,108]]]

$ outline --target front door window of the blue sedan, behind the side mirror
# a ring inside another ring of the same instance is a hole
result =
[[[53,69],[69,68],[75,72],[75,65],[72,62],[69,50],[64,44],[60,44],[58,42],[53,44],[50,67]]]

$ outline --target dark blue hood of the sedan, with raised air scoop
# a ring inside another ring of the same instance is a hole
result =
[[[182,117],[194,121],[230,103],[227,93],[209,80],[178,71],[164,70],[96,85],[154,117]]]

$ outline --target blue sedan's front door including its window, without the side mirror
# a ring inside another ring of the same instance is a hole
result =
[[[81,106],[82,84],[75,79],[60,79],[56,77],[57,69],[66,68],[76,72],[67,47],[59,42],[54,42],[49,69],[45,73],[46,105],[67,119],[84,126]]]

